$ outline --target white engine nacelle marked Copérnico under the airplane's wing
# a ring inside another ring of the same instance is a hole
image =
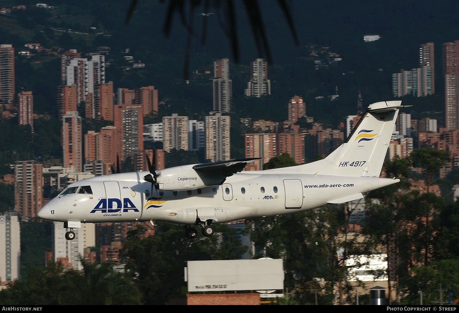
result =
[[[211,171],[193,170],[193,165],[182,165],[157,170],[159,190],[178,191],[221,185],[226,177],[221,172],[215,176]]]

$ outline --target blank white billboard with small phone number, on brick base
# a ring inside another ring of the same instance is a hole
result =
[[[188,261],[188,291],[283,290],[282,259]]]

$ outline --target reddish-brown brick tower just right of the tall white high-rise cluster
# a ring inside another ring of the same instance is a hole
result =
[[[89,102],[90,100],[86,101],[86,117],[113,121],[113,82],[95,85],[92,105],[88,105]]]

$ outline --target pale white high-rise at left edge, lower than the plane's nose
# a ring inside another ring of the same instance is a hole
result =
[[[17,212],[0,213],[0,281],[20,278],[21,228]]]

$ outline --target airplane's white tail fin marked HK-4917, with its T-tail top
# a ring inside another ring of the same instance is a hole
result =
[[[383,101],[370,104],[340,147],[325,159],[295,167],[296,172],[379,177],[398,111],[405,107],[401,103]]]

